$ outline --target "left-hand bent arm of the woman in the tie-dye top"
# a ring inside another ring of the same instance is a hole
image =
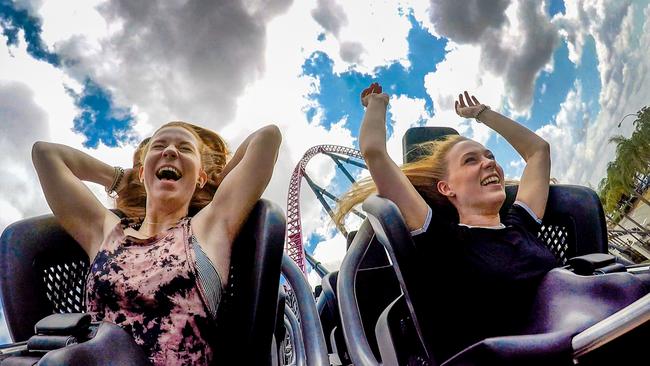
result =
[[[104,239],[105,228],[119,219],[82,180],[109,187],[114,168],[71,147],[42,141],[34,144],[32,161],[54,216],[92,259]]]

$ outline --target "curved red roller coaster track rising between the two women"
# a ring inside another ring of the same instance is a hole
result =
[[[307,162],[322,153],[333,153],[363,159],[359,150],[337,145],[317,145],[305,152],[291,175],[287,197],[287,242],[285,249],[300,269],[305,272],[305,251],[302,245],[302,225],[300,221],[300,182],[305,174]]]

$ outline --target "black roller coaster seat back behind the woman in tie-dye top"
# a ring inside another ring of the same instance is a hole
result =
[[[219,349],[229,352],[219,362],[271,362],[284,230],[282,209],[262,199],[233,245],[216,334]],[[87,272],[86,254],[52,215],[7,227],[0,237],[0,294],[13,341],[29,339],[50,314],[83,312]],[[233,352],[242,349],[247,352]]]

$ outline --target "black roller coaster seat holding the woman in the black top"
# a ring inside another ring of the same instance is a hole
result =
[[[423,151],[417,148],[417,144],[449,133],[456,132],[436,127],[408,130],[402,141],[405,162],[420,158]],[[502,213],[513,203],[516,191],[516,186],[506,187],[507,198]],[[381,362],[384,365],[439,364],[443,360],[436,360],[430,347],[435,342],[435,331],[420,326],[426,323],[427,317],[422,305],[425,303],[424,297],[431,295],[427,295],[426,288],[422,288],[424,284],[417,277],[415,247],[401,214],[392,202],[376,196],[371,196],[364,202],[364,210],[369,216],[362,227],[370,227],[367,229],[369,233],[356,238],[352,243],[338,278],[340,312],[344,315],[342,321],[351,358],[355,364],[378,364],[366,340],[366,336],[372,338],[372,335],[364,332],[364,327],[360,324],[359,312],[363,313],[364,309],[357,307],[350,288],[355,286],[354,278],[367,245],[372,240],[379,240],[389,252],[403,292],[385,309],[376,325],[376,340],[382,351]],[[613,260],[609,258],[602,261],[607,256],[606,225],[600,201],[591,189],[551,186],[539,237],[562,264],[592,270],[594,265],[605,265],[603,272],[625,271],[625,266],[612,263]],[[588,255],[590,253],[596,253],[595,259],[593,254]],[[588,256],[584,260],[569,260],[583,255]],[[583,265],[583,262],[589,265]],[[608,320],[611,320],[621,312],[631,311],[630,309],[642,313],[640,318],[650,317],[650,295],[643,296],[650,288],[647,275],[645,277],[630,273],[582,277],[565,269],[553,270],[545,278],[535,306],[531,309],[531,319],[534,321],[526,329],[530,334],[486,339],[452,357],[445,365],[556,364],[571,361],[572,356],[576,357],[576,349],[572,347],[580,346],[581,342],[584,345],[584,340],[589,339],[588,335],[593,334],[586,331],[574,337],[584,328],[608,316]],[[375,288],[381,286],[379,282],[374,285]],[[622,308],[624,309],[619,313],[612,315]],[[647,320],[645,322],[647,325]],[[647,333],[647,327],[642,327],[642,332]],[[583,336],[585,333],[587,336]],[[638,331],[634,334],[632,337],[636,336],[633,338],[636,341],[643,339],[638,336]],[[444,337],[441,334],[437,336]],[[588,359],[589,356],[581,359],[585,358]]]

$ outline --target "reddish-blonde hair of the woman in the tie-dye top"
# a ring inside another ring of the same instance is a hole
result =
[[[215,132],[183,121],[173,121],[162,125],[154,135],[166,127],[181,127],[189,131],[199,143],[201,165],[208,180],[202,188],[196,188],[190,200],[189,214],[194,215],[205,207],[217,191],[217,177],[226,166],[229,155],[226,142]],[[153,135],[152,135],[153,137]],[[138,171],[150,147],[151,137],[144,139],[133,154],[133,170],[124,179],[126,188],[116,199],[116,207],[128,217],[144,217],[147,193],[144,184],[138,179]]]

